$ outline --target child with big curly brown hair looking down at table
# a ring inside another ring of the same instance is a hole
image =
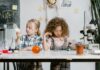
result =
[[[67,50],[69,28],[63,18],[55,17],[46,26],[43,46],[45,50]],[[70,70],[70,63],[51,62],[50,70]]]

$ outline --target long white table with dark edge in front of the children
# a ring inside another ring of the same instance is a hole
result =
[[[41,51],[38,54],[32,53],[32,51],[19,51],[18,53],[2,54],[0,55],[0,61],[100,61],[100,55],[93,55],[84,53],[83,55],[76,55],[75,51]]]

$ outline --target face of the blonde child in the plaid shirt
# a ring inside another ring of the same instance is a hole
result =
[[[34,22],[27,23],[26,25],[26,33],[27,35],[31,36],[36,33],[36,25]]]

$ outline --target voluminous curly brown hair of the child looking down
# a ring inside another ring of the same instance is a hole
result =
[[[63,18],[60,17],[55,17],[49,21],[49,23],[46,26],[45,33],[51,32],[52,36],[54,37],[55,36],[54,30],[56,29],[57,26],[61,26],[62,28],[62,37],[69,36],[68,24]]]

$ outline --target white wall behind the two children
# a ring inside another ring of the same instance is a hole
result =
[[[90,0],[71,0],[71,7],[61,7],[62,0],[58,1],[58,16],[63,17],[70,30],[72,39],[79,40],[84,24],[84,11],[86,12],[86,24],[90,22]],[[45,22],[45,9],[43,7],[43,0],[20,0],[20,18],[21,18],[21,32],[25,34],[25,24],[30,18],[40,19],[41,32],[43,33]],[[55,9],[47,8],[48,20],[56,16]],[[49,70],[49,63],[43,63],[44,70]],[[95,70],[95,63],[71,63],[71,70]]]

